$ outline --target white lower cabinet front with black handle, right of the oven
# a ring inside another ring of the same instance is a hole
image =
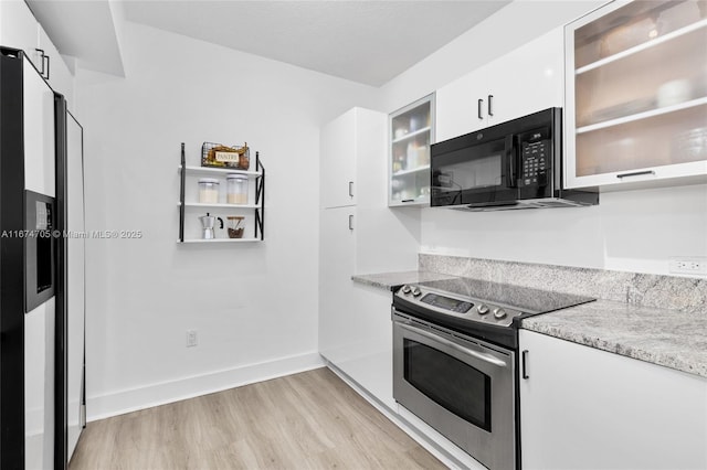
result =
[[[520,351],[524,470],[707,468],[706,378],[526,330]]]

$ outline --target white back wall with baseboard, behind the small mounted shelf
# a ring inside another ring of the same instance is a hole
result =
[[[144,234],[87,241],[89,420],[320,364],[319,128],[377,93],[134,23],[120,43],[125,78],[77,73],[87,229]],[[177,244],[182,141],[194,165],[260,151],[264,243]]]

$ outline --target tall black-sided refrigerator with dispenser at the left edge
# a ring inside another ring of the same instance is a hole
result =
[[[0,47],[0,468],[64,469],[85,426],[83,129]]]

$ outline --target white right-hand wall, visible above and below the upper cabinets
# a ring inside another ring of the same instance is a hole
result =
[[[390,113],[603,1],[517,0],[382,87]],[[671,256],[707,256],[707,186],[602,193],[582,209],[421,212],[421,252],[668,274]]]

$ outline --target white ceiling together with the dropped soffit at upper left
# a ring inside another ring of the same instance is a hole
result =
[[[372,86],[387,83],[509,2],[27,1],[59,51],[84,68],[123,75],[116,29],[125,17]]]

